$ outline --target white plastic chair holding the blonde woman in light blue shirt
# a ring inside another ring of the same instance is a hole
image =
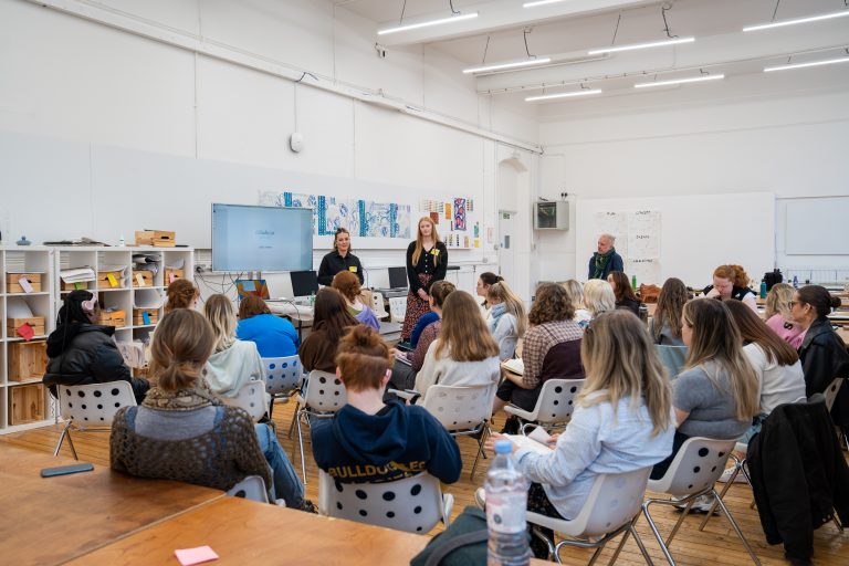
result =
[[[651,468],[641,468],[626,473],[599,474],[593,482],[587,501],[580,509],[578,516],[572,521],[528,512],[528,523],[551,528],[572,538],[564,538],[555,546],[554,541],[544,536],[537,528],[532,528],[533,535],[545,542],[548,546],[548,556],[554,556],[558,564],[562,564],[559,553],[564,546],[595,548],[596,552],[589,560],[591,566],[598,555],[601,554],[605,545],[625,533],[610,564],[616,563],[628,535],[633,536],[646,562],[652,564],[642,539],[633,528],[640,516],[642,500],[646,495],[646,482],[650,472]]]

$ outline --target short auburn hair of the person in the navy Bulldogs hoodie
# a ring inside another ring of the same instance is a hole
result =
[[[346,389],[379,389],[386,370],[392,367],[392,355],[374,328],[358,324],[342,337],[336,367],[339,368]]]

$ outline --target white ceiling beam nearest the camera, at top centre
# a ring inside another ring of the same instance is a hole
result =
[[[392,33],[390,35],[379,35],[378,41],[381,45],[386,46],[432,43],[436,41],[479,35],[510,28],[535,25],[545,20],[578,18],[599,12],[623,10],[626,8],[649,6],[653,3],[658,3],[657,0],[569,0],[536,8],[522,8],[523,2],[521,0],[489,0],[462,7],[460,10],[462,13],[478,12],[478,18],[472,20],[458,21],[451,24],[434,25],[431,28],[421,28],[418,30]],[[448,10],[448,2],[446,2],[446,10],[417,15],[416,18],[405,18],[403,23],[424,22],[450,15],[451,13]],[[398,24],[399,21],[397,19],[387,20],[380,22],[377,29],[381,30]]]

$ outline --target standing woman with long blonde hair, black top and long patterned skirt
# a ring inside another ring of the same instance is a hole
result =
[[[439,239],[437,227],[430,217],[422,217],[419,220],[416,241],[407,247],[407,279],[410,282],[410,292],[407,294],[407,313],[401,327],[402,340],[410,339],[416,322],[430,311],[430,285],[446,279],[447,268],[448,249]]]

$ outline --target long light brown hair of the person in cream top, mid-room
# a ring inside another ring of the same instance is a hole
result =
[[[481,316],[481,307],[465,291],[454,291],[442,306],[442,327],[434,355],[448,349],[454,361],[481,361],[499,355],[499,344]]]

